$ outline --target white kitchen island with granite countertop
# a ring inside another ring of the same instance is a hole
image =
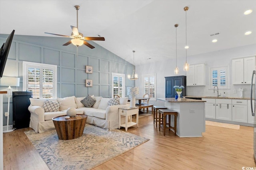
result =
[[[164,106],[178,112],[177,135],[179,137],[202,137],[205,132],[205,107],[202,100],[181,98],[157,98]],[[171,125],[174,125],[171,119]]]

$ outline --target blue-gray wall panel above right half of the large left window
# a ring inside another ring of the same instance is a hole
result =
[[[60,51],[44,49],[44,63],[60,65]]]

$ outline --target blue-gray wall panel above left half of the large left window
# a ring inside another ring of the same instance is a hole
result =
[[[19,60],[41,63],[41,48],[20,43]]]

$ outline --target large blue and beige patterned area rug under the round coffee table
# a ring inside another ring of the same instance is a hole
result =
[[[72,140],[58,139],[56,130],[24,133],[50,170],[89,170],[149,140],[119,129],[108,131],[88,124],[84,134]]]

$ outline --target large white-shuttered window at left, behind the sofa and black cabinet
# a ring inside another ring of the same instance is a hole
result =
[[[57,66],[23,62],[23,90],[33,92],[33,98],[57,97]]]

